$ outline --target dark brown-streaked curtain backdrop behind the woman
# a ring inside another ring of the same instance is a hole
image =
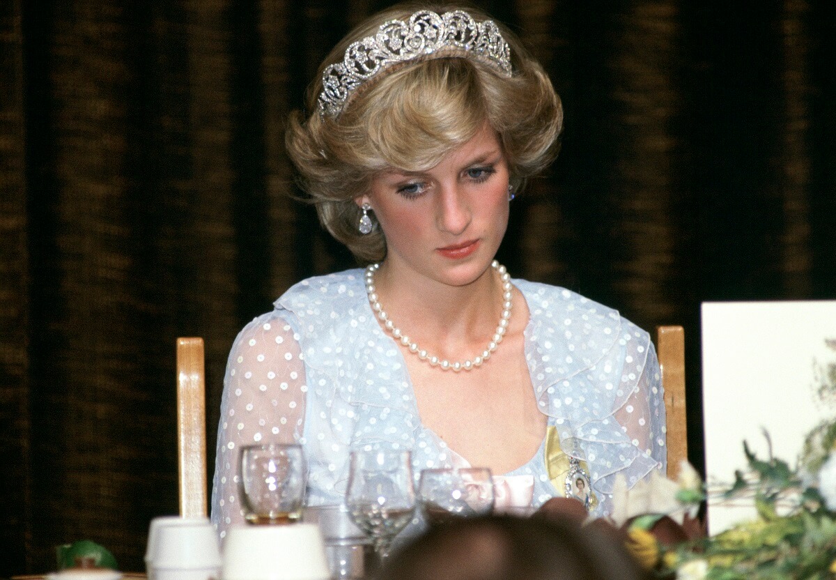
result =
[[[686,327],[702,465],[701,301],[836,297],[836,3],[480,4],[566,111],[500,257]],[[213,441],[240,327],[354,264],[288,198],[283,123],[384,5],[0,2],[0,576],[82,538],[143,569],[177,511],[176,336],[206,339]]]

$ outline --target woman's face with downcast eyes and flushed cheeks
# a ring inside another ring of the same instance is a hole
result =
[[[491,264],[508,222],[508,168],[487,124],[426,172],[390,170],[368,195],[386,237],[385,267],[466,285]]]

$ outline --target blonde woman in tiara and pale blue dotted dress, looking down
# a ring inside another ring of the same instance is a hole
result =
[[[287,146],[319,217],[363,270],[303,280],[237,337],[213,520],[241,521],[238,448],[299,442],[308,503],[339,503],[350,449],[490,467],[504,506],[575,495],[608,511],[614,474],[664,464],[647,333],[492,260],[509,201],[556,155],[548,76],[484,14],[401,5],[325,59]]]

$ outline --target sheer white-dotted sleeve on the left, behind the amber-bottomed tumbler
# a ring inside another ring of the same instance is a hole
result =
[[[243,521],[237,490],[240,448],[302,437],[308,388],[298,338],[274,311],[245,326],[232,345],[212,483],[212,523],[221,538]]]

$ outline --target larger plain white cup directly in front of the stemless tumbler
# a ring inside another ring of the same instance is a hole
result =
[[[319,527],[232,526],[223,543],[223,580],[329,580]]]

